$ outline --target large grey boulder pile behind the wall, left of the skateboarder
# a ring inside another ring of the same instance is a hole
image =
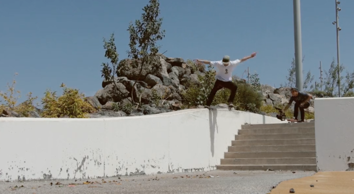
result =
[[[199,83],[198,75],[204,74],[203,68],[186,63],[182,58],[167,58],[161,54],[154,63],[143,66],[142,74],[139,73],[141,64],[134,68],[130,59],[124,59],[121,64],[124,66],[117,72],[114,82],[104,80],[103,88],[86,99],[99,110],[90,117],[136,116],[180,110],[181,94],[190,84]],[[132,99],[144,105],[138,108],[131,103]],[[122,111],[115,112],[117,106]]]

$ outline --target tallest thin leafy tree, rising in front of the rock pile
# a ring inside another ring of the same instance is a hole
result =
[[[128,28],[130,34],[128,57],[132,58],[134,68],[140,66],[139,78],[134,82],[131,89],[133,101],[133,94],[136,92],[134,90],[135,85],[137,81],[142,79],[142,70],[145,65],[153,63],[160,48],[156,43],[165,36],[165,31],[161,30],[163,19],[159,18],[159,0],[150,0],[149,4],[142,10],[144,13],[141,19],[135,20],[135,25],[130,22]]]

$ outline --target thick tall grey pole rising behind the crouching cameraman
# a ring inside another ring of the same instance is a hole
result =
[[[296,87],[302,91],[302,45],[301,45],[301,14],[300,0],[293,0],[294,8],[294,40],[295,40],[295,69]]]

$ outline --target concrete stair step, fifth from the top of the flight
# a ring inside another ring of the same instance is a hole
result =
[[[316,151],[315,144],[281,146],[229,146],[229,152]]]

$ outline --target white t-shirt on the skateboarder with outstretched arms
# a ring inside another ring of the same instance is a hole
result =
[[[235,61],[230,61],[228,66],[225,66],[222,61],[211,61],[210,64],[216,67],[216,79],[220,81],[232,81],[232,71],[233,69],[241,63],[241,60],[236,59]]]

